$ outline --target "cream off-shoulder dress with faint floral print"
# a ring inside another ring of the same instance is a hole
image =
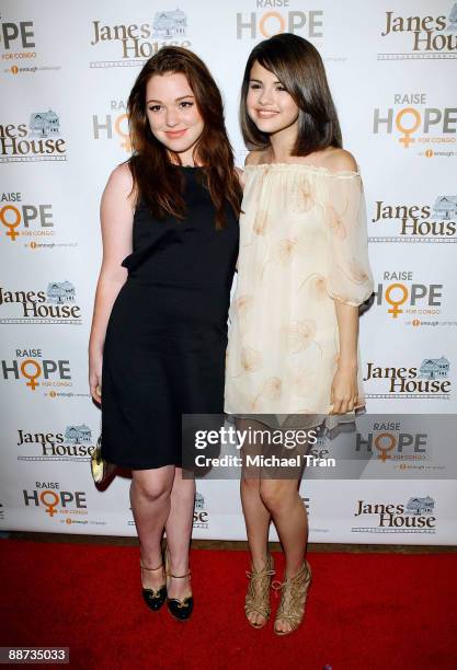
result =
[[[270,415],[279,425],[287,415],[308,415],[302,425],[315,426],[321,420],[312,416],[332,409],[334,301],[359,305],[374,288],[361,175],[269,163],[247,165],[243,178],[225,411],[275,423]],[[357,357],[363,406],[358,349]],[[325,421],[332,427],[335,418]]]

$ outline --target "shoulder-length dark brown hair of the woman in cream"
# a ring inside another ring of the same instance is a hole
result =
[[[252,66],[273,72],[298,106],[298,134],[292,155],[308,155],[327,147],[342,147],[340,123],[322,58],[316,47],[292,33],[264,39],[251,51],[241,85],[240,124],[247,146],[266,149],[270,138],[249,117],[247,97]]]

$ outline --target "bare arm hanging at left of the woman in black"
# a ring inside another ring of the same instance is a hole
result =
[[[127,164],[116,168],[107,181],[100,208],[103,259],[95,291],[92,327],[89,338],[89,385],[91,395],[101,403],[103,346],[113,303],[127,279],[121,263],[132,253],[134,196],[133,178]]]

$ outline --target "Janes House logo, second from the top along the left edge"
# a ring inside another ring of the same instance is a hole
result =
[[[46,290],[9,290],[0,286],[0,323],[81,325],[81,308],[70,281],[50,281]]]

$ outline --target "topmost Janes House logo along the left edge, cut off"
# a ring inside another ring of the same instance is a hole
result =
[[[66,161],[66,140],[61,137],[56,112],[33,112],[28,124],[0,124],[0,162]]]

